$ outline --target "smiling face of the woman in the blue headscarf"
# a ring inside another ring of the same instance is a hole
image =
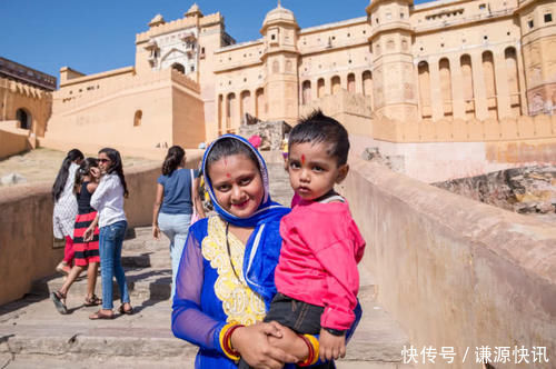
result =
[[[245,154],[221,158],[208,168],[218,203],[239,218],[251,216],[262,201],[265,189],[257,164]]]

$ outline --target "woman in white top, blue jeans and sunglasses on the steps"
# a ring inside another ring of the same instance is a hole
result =
[[[126,275],[121,266],[121,246],[128,227],[123,212],[123,198],[128,197],[128,187],[123,177],[120,153],[110,148],[99,151],[100,182],[91,197],[91,207],[97,209],[97,218],[85,231],[83,238],[92,237],[95,227],[99,226],[100,278],[102,280],[102,309],[89,319],[112,319],[115,313],[112,297],[112,278],[116,277],[120,289],[120,313],[132,313],[129,300]]]

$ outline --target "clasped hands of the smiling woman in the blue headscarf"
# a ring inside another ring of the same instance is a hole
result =
[[[231,346],[255,368],[280,369],[286,362],[298,361],[294,355],[272,347],[269,336],[281,338],[282,333],[275,323],[258,322],[236,329],[231,335]]]

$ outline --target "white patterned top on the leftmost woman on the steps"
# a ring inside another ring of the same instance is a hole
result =
[[[73,182],[76,181],[76,171],[79,166],[72,162],[68,168],[68,179],[63,186],[62,193],[54,202],[52,215],[52,225],[56,238],[69,236],[73,238],[73,227],[76,226],[77,198],[73,195]]]

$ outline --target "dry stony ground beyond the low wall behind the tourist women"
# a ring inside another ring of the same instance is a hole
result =
[[[97,157],[97,153],[85,152],[86,157]],[[14,154],[7,159],[0,160],[0,179],[11,173],[17,173],[23,177],[26,183],[36,182],[54,182],[56,174],[66,157],[64,151],[39,148],[21,154]],[[123,157],[123,170],[157,162],[155,160]],[[1,186],[11,186],[2,184]]]

